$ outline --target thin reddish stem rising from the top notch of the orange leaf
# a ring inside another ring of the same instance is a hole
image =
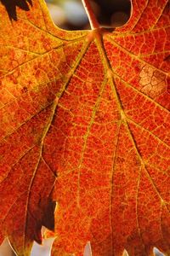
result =
[[[88,15],[88,20],[89,20],[91,28],[92,29],[99,28],[99,22],[94,15],[94,11],[89,3],[89,0],[82,0],[82,4],[83,4],[84,9]]]

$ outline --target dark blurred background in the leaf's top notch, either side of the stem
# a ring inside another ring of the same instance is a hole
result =
[[[67,30],[88,29],[81,0],[46,0],[54,22]],[[130,0],[90,0],[100,26],[122,26],[130,16]]]

